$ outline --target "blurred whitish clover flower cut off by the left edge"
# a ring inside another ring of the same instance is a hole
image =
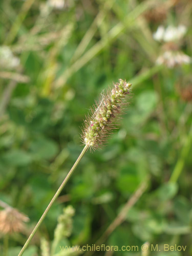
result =
[[[19,66],[20,59],[15,57],[8,46],[0,46],[0,67],[14,69]]]

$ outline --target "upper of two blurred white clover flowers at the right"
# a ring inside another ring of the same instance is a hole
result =
[[[166,29],[163,26],[159,26],[153,37],[156,41],[177,41],[185,35],[186,31],[187,29],[184,25],[179,25],[178,27],[168,26]]]

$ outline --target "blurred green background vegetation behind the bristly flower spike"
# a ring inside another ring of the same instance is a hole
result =
[[[75,209],[73,229],[59,240],[59,255],[66,255],[59,245],[98,239],[139,248],[186,245],[184,252],[148,255],[192,253],[191,64],[157,66],[163,42],[153,38],[160,25],[185,25],[176,44],[191,56],[191,11],[190,0],[0,2],[0,199],[30,219],[9,234],[9,244],[0,233],[1,255],[17,255],[25,243],[82,150],[89,107],[118,78],[133,82],[120,129],[82,159],[25,255],[49,255],[40,241],[51,245],[67,205]]]

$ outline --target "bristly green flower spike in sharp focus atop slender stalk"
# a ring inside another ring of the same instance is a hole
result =
[[[90,148],[97,148],[105,142],[113,129],[116,128],[117,120],[122,113],[122,106],[126,104],[125,96],[131,92],[131,83],[119,79],[113,88],[101,94],[101,99],[91,109],[82,129],[82,142]]]

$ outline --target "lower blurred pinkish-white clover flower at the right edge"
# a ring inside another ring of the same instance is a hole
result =
[[[165,51],[160,55],[156,63],[157,65],[166,65],[168,68],[174,68],[178,65],[189,64],[192,59],[181,51]]]

